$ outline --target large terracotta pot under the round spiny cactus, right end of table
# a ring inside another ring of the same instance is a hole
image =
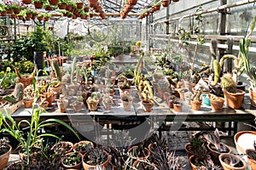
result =
[[[241,103],[244,98],[244,91],[238,90],[238,94],[232,94],[227,91],[223,91],[224,93],[224,99],[225,99],[225,105],[229,106],[232,109],[240,109]]]

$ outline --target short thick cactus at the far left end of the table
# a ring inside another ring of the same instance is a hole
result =
[[[22,99],[23,96],[23,84],[18,83],[15,86],[15,91],[12,94],[6,95],[3,97],[5,101],[8,101],[10,103],[17,103]]]

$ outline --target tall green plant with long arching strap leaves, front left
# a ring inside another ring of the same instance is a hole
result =
[[[38,77],[34,78],[33,81],[33,88],[35,94],[38,94],[40,92],[40,88],[38,88],[36,82],[38,80]],[[38,95],[34,95],[34,101],[38,100]],[[25,150],[25,153],[27,155],[27,164],[30,163],[30,154],[31,150],[37,145],[42,144],[42,139],[44,137],[54,137],[55,139],[60,139],[55,134],[52,133],[41,133],[38,132],[40,129],[48,126],[52,126],[55,123],[59,123],[64,127],[67,127],[71,132],[73,132],[78,138],[79,135],[76,133],[72,127],[70,127],[66,122],[62,122],[61,120],[50,118],[45,121],[40,122],[40,116],[42,114],[42,109],[35,108],[35,105],[32,105],[32,111],[30,111],[31,114],[31,122],[28,122],[27,120],[21,120],[20,122],[15,122],[14,118],[9,115],[9,113],[4,114],[3,112],[0,112],[0,132],[9,133],[12,137],[18,140],[19,145],[21,149]],[[24,133],[22,131],[22,128],[20,127],[21,124],[26,124],[30,130],[28,133]]]

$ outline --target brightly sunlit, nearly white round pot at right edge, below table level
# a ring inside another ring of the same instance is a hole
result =
[[[245,138],[245,139],[239,139],[241,137],[241,135]],[[255,135],[253,137],[253,135]],[[234,142],[236,144],[236,151],[238,154],[246,154],[246,150],[247,149],[253,149],[253,140],[256,137],[256,131],[241,131],[239,133],[236,133],[234,136]],[[239,141],[238,141],[239,139]],[[241,142],[245,142],[245,144],[240,144]],[[248,144],[252,144],[251,146],[249,146]]]

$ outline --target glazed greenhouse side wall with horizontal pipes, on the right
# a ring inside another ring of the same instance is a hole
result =
[[[218,40],[218,48],[220,49],[218,55],[221,57],[228,53],[227,39],[232,38],[233,49],[231,53],[237,55],[239,39],[246,36],[253,17],[256,15],[256,4],[243,1],[244,4],[236,6],[234,4],[241,3],[241,1],[227,0],[226,5],[236,7],[218,9],[218,7],[224,5],[224,2],[190,0],[189,3],[187,1],[179,1],[178,3],[171,3],[168,8],[161,7],[160,11],[148,16],[147,19],[143,19],[143,27],[147,27],[147,23],[149,23],[149,31],[143,29],[144,44],[148,45],[148,49],[166,49],[169,58],[173,62],[177,63],[185,60],[191,64],[193,63],[195,44],[197,43],[195,36],[202,36],[204,37],[204,43],[198,46],[195,54],[195,64],[200,66],[201,63],[209,65],[211,62],[210,42],[212,39]],[[201,22],[198,24],[198,20],[196,20],[198,15],[195,13],[205,12],[206,9],[212,8],[216,10],[201,14]],[[225,20],[221,20],[222,16],[225,17]],[[167,20],[168,23],[166,23]],[[191,38],[188,40],[189,45],[183,45],[182,42],[184,40],[180,40],[183,34],[179,30],[182,28],[184,31],[193,32],[195,31],[195,26],[199,27],[199,32],[191,33]],[[221,28],[222,26],[223,28]],[[149,36],[148,32],[150,32]],[[223,37],[219,37],[219,35]],[[251,63],[256,61],[255,35],[256,31],[254,30],[251,48],[249,48]],[[246,81],[243,77],[241,77],[241,80]]]

